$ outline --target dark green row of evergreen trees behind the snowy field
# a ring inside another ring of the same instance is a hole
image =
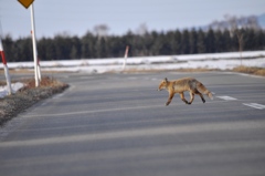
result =
[[[251,51],[265,49],[265,31],[262,29],[237,29],[243,40],[239,41],[231,30],[206,31],[199,29],[174,30],[168,32],[145,31],[124,35],[100,35],[87,32],[78,38],[57,34],[54,38],[38,40],[38,54],[42,61],[100,59],[124,56],[126,45],[130,46],[129,55],[174,55],[195,53],[219,53],[232,51]],[[32,61],[32,40],[21,38],[13,40],[10,35],[3,39],[3,48],[9,62]]]

